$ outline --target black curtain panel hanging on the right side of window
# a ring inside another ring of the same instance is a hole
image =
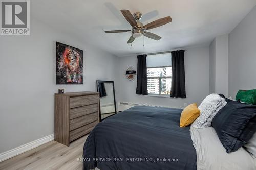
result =
[[[171,98],[186,98],[184,50],[172,51]]]

